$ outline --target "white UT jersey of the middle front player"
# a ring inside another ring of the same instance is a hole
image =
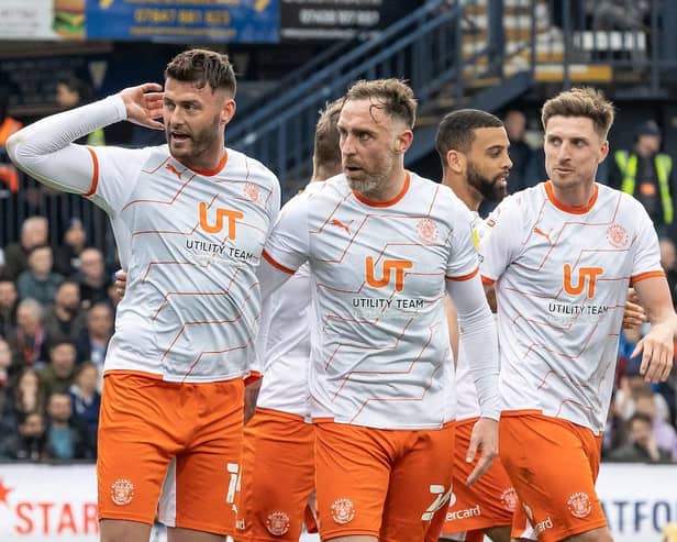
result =
[[[475,276],[471,215],[445,186],[408,174],[373,202],[340,175],[280,213],[264,256],[317,286],[312,416],[385,429],[439,428],[454,417],[446,280]]]

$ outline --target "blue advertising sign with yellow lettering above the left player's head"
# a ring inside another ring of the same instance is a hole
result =
[[[87,0],[88,38],[279,42],[279,0]]]

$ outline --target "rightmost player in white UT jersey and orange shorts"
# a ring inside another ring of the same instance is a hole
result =
[[[550,181],[503,200],[481,250],[498,300],[500,456],[539,540],[608,542],[595,480],[629,283],[652,323],[636,349],[648,381],[670,373],[677,317],[644,208],[595,182],[611,103],[574,89],[542,120]]]

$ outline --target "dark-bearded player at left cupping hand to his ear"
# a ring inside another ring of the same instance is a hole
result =
[[[8,144],[42,182],[109,214],[127,291],[106,358],[97,463],[101,540],[217,542],[234,527],[243,377],[260,311],[255,275],[279,209],[262,164],[224,147],[227,57],[192,49],[145,84],[42,121]],[[113,122],[162,129],[143,150],[71,142]],[[163,490],[163,497],[158,504]]]

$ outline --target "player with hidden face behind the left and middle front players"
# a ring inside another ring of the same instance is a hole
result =
[[[336,121],[341,102],[328,106],[315,129],[313,174],[306,192],[341,173]],[[308,265],[264,307],[263,380],[254,417],[244,428],[236,540],[298,542],[314,490],[314,432],[308,365],[313,284]]]

